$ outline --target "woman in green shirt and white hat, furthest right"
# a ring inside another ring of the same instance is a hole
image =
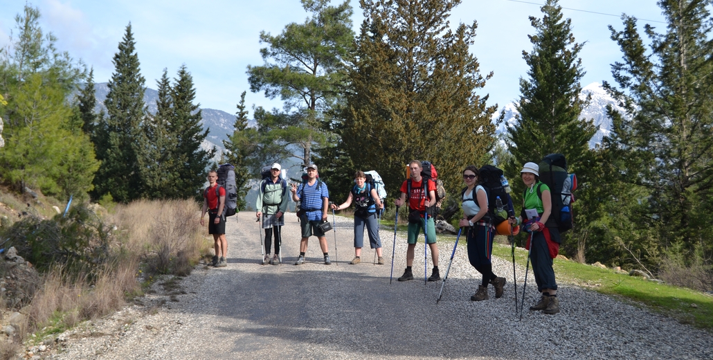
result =
[[[550,188],[540,182],[540,167],[535,163],[526,163],[523,170],[520,170],[520,177],[525,184],[523,195],[523,210],[520,217],[508,219],[511,225],[519,225],[523,218],[525,231],[531,232],[529,244],[530,260],[533,263],[533,273],[538,291],[542,293],[540,301],[531,306],[530,310],[542,310],[544,314],[557,314],[560,312],[560,300],[557,298],[557,282],[555,281],[555,270],[552,267],[553,257],[550,256],[550,247],[559,247],[560,231],[551,220],[552,198]],[[540,196],[538,197],[538,191]],[[529,216],[528,216],[529,215]],[[547,224],[545,226],[545,224]],[[552,225],[550,225],[552,224]],[[528,241],[529,242],[529,241]]]

